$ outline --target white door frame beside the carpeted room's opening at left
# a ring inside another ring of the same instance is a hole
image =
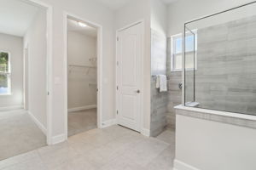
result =
[[[47,56],[46,56],[46,139],[47,144],[52,144],[52,6],[43,3],[40,0],[21,0],[24,3],[30,3],[35,6],[40,6],[46,10],[46,32],[47,32]]]

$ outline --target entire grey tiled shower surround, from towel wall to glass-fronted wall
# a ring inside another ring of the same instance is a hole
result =
[[[255,30],[255,16],[197,30],[195,101],[199,107],[256,115]],[[156,136],[165,127],[175,127],[173,107],[182,103],[182,90],[178,88],[182,72],[171,71],[171,38],[156,31],[151,35],[151,74],[166,74],[168,83],[168,92],[160,94],[155,89],[155,77],[151,78],[150,130]],[[193,81],[193,71],[187,71],[186,102],[194,99]]]

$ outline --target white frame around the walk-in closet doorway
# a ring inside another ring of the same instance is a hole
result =
[[[65,136],[67,139],[67,17],[72,17],[77,20],[84,21],[92,26],[97,28],[97,127],[102,128],[102,26],[92,22],[90,20],[84,19],[76,14],[71,14],[68,12],[64,12],[63,23],[64,23],[64,65],[65,65],[65,73],[64,73],[64,98],[65,98]]]

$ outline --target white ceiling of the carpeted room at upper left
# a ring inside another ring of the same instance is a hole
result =
[[[17,0],[1,0],[0,33],[23,37],[38,7]]]

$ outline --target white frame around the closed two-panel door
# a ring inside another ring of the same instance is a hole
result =
[[[118,34],[119,34],[119,31],[123,31],[127,28],[130,28],[131,26],[136,26],[137,24],[142,24],[142,80],[143,80],[143,71],[144,71],[144,56],[145,56],[145,21],[144,20],[138,20],[137,22],[133,22],[127,26],[124,26],[120,29],[118,29],[115,33],[116,35],[116,44],[115,44],[115,87],[118,86],[119,84],[119,79],[118,79],[118,59],[119,59],[119,56],[118,56]],[[139,130],[139,133],[143,133],[143,101],[144,101],[144,81],[141,82],[141,115],[140,115],[140,130]],[[117,88],[115,88],[117,90]],[[117,91],[115,91],[115,111],[118,111],[118,97],[119,97],[119,94],[117,93]],[[116,122],[118,122],[117,120],[117,115],[116,115]]]

